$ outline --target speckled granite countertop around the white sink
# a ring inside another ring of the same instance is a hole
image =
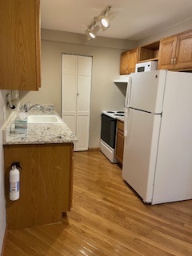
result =
[[[26,114],[57,114],[54,110],[30,110]],[[2,143],[3,145],[11,144],[46,144],[46,143],[69,143],[78,142],[70,128],[65,122],[59,124],[27,124],[26,134],[10,134],[10,125],[14,122],[18,112],[12,112],[10,117],[2,127]],[[59,116],[58,116],[59,117]],[[60,118],[60,117],[59,117]],[[62,119],[61,119],[62,120]]]

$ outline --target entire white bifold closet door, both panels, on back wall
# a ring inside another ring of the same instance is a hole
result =
[[[88,150],[92,58],[62,54],[62,119],[78,137],[74,151]]]

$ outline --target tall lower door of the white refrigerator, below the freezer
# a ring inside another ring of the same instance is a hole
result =
[[[128,111],[122,178],[144,202],[151,202],[161,115]]]

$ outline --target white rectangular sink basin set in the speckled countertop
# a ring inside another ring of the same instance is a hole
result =
[[[47,115],[29,115],[27,117],[28,123],[62,123],[62,120],[55,114]]]

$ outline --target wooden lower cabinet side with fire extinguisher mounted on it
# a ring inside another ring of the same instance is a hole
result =
[[[6,221],[8,228],[61,222],[70,210],[73,143],[4,146]],[[9,173],[20,162],[20,198],[10,201]]]

